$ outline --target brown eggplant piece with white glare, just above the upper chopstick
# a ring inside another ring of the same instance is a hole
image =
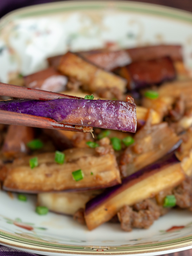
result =
[[[52,92],[64,91],[68,81],[67,77],[60,74],[54,67],[25,76],[24,79],[26,87]]]

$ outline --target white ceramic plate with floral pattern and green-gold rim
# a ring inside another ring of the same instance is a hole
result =
[[[192,15],[132,2],[70,1],[14,11],[0,21],[0,80],[45,68],[46,57],[115,42],[117,47],[176,43],[192,68]],[[0,243],[45,255],[159,255],[192,248],[191,212],[172,211],[148,230],[104,224],[88,231],[72,218],[35,213],[28,202],[0,192]],[[174,227],[175,228],[172,228]]]

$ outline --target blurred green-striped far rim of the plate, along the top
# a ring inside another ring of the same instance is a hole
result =
[[[58,12],[72,12],[72,11],[87,11],[105,9],[106,7],[112,7],[113,9],[123,12],[137,12],[144,14],[158,15],[162,17],[187,21],[192,23],[192,14],[187,11],[180,11],[171,7],[165,7],[155,4],[135,3],[125,1],[70,1],[70,2],[57,2],[51,4],[39,4],[30,7],[24,7],[16,11],[10,12],[0,20],[0,26],[2,27],[5,22],[10,22],[14,19],[26,18],[37,15],[56,14]]]

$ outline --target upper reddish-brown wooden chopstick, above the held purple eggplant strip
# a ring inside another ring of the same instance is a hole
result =
[[[67,94],[48,92],[38,89],[32,89],[28,87],[4,84],[0,83],[0,95],[10,96],[19,99],[29,99],[29,100],[53,100],[58,98],[68,98],[68,99],[82,99],[80,97],[75,97]]]

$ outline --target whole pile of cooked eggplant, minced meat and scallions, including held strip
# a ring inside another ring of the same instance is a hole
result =
[[[1,125],[1,188],[23,201],[37,194],[37,213],[68,214],[89,230],[107,221],[149,228],[172,208],[192,211],[192,78],[182,47],[67,52],[47,64],[10,83],[83,99],[2,100],[0,109],[92,126],[93,136]]]

